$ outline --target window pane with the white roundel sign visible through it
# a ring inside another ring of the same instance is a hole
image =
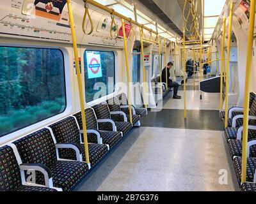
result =
[[[84,85],[86,102],[106,96],[115,91],[114,52],[84,52]]]

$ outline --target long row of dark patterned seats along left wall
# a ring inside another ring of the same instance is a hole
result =
[[[124,93],[84,110],[90,164],[86,163],[81,112],[0,147],[0,191],[70,191],[147,112]]]

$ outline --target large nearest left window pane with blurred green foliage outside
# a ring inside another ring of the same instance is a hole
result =
[[[0,136],[64,112],[61,50],[0,47]]]

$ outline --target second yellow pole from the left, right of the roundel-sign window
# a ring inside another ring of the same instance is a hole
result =
[[[128,60],[127,41],[126,41],[126,33],[125,33],[125,26],[124,26],[124,19],[123,18],[122,18],[122,30],[123,30],[123,36],[124,36],[124,52],[125,52],[125,65],[126,65],[126,75],[127,75],[129,116],[130,116],[130,122],[132,124],[132,104],[131,104],[131,91],[130,91],[129,60]]]

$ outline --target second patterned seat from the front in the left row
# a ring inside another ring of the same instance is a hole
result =
[[[41,129],[13,143],[19,151],[22,163],[43,165],[51,172],[53,186],[60,187],[63,191],[70,191],[88,171],[88,165],[84,162],[57,159],[57,144],[49,129]],[[39,171],[36,171],[36,184],[45,184],[44,175]]]

